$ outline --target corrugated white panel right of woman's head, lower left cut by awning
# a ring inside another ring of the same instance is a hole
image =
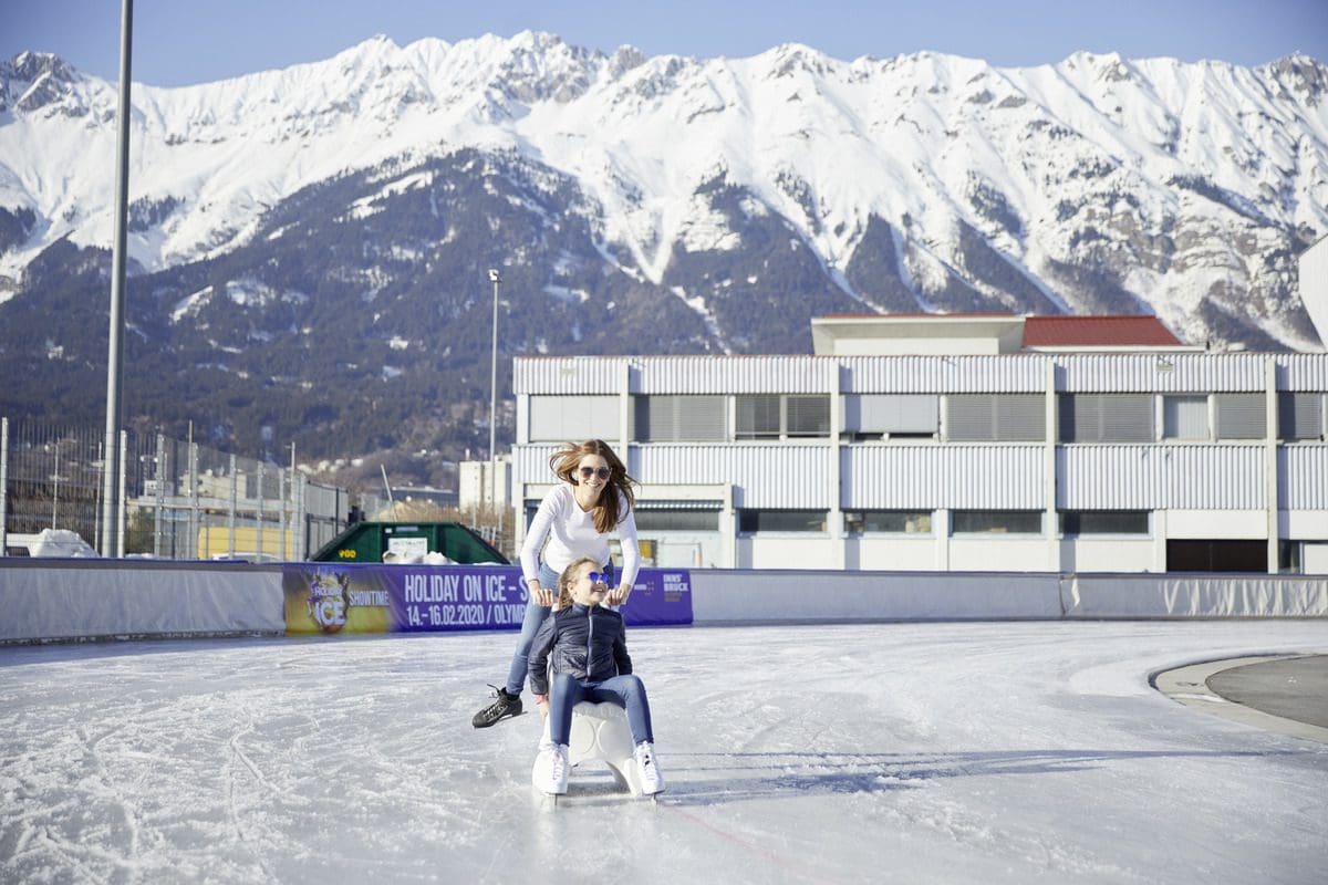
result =
[[[633,446],[628,472],[643,486],[732,483],[736,507],[829,510],[834,495],[829,446]]]

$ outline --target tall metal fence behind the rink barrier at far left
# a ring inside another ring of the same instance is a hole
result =
[[[293,467],[121,433],[118,556],[296,561],[347,525],[352,495]],[[101,431],[0,418],[0,552],[42,529],[102,549]]]

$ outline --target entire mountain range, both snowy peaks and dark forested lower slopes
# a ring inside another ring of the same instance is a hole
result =
[[[482,450],[489,267],[505,358],[801,353],[813,316],[935,310],[1317,349],[1296,256],[1328,232],[1325,94],[1304,56],[999,69],[538,33],[135,86],[125,402],[242,450]],[[11,415],[100,421],[114,115],[60,58],[0,62]]]

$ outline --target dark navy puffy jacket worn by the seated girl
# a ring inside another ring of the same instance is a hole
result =
[[[554,673],[582,682],[603,682],[632,671],[623,616],[602,605],[572,604],[544,618],[530,646],[530,690],[548,694],[548,657]]]

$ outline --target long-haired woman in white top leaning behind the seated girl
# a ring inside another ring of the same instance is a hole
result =
[[[477,728],[487,728],[505,716],[521,713],[521,689],[526,683],[530,645],[552,610],[558,576],[563,569],[586,556],[612,576],[608,535],[616,529],[623,547],[623,579],[608,592],[606,602],[627,602],[636,582],[640,553],[636,549],[633,515],[635,480],[627,475],[623,462],[604,441],[587,439],[579,446],[567,444],[554,452],[548,467],[562,482],[539,503],[521,548],[522,580],[530,593],[517,653],[507,671],[507,685],[499,687],[494,702],[470,720]]]

